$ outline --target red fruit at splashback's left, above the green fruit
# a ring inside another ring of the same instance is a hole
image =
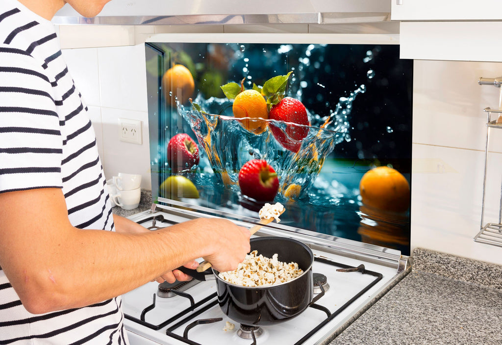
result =
[[[171,138],[167,145],[167,163],[173,172],[199,164],[199,149],[188,134],[179,133]]]

